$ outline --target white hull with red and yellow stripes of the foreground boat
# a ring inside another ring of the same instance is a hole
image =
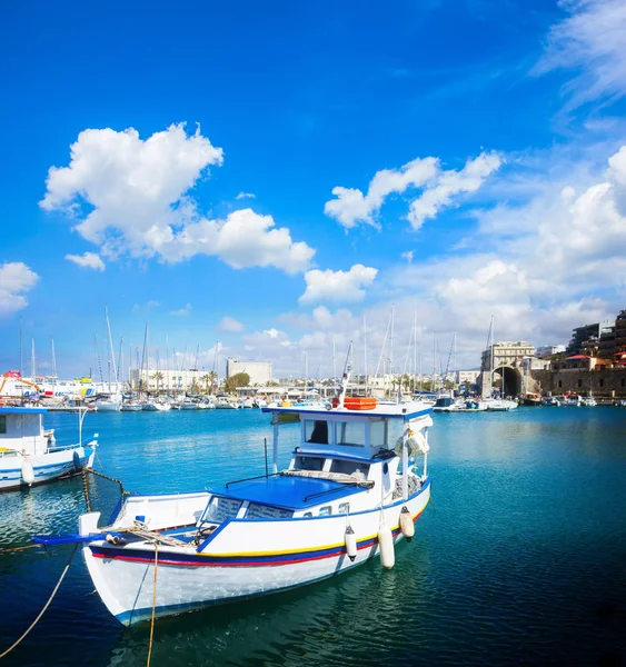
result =
[[[430,482],[385,508],[385,522],[394,541],[404,539],[398,527],[404,506],[414,521],[430,498]],[[379,556],[380,510],[356,512],[349,522],[357,535],[357,556],[345,549],[346,516],[310,519],[233,520],[215,531],[215,538],[193,548],[161,546],[158,552],[155,617],[235,603],[307,586],[358,567]],[[229,530],[230,528],[233,530]],[[231,537],[229,537],[229,532]],[[219,534],[221,538],[218,539]],[[246,541],[241,541],[245,535]],[[264,544],[265,542],[265,544]],[[242,549],[264,551],[241,552]],[[280,548],[289,546],[290,548]],[[109,611],[123,625],[148,620],[155,595],[155,548],[115,547],[96,542],[83,547],[83,557],[96,589]]]

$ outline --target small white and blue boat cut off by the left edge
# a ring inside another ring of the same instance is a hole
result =
[[[0,407],[0,491],[51,481],[93,465],[98,435],[83,442],[79,436],[77,445],[57,446],[54,431],[43,429],[46,411]],[[85,411],[79,424],[83,417]]]

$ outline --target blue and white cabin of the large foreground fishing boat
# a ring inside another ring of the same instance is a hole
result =
[[[433,424],[429,406],[398,404],[369,410],[289,406],[262,410],[272,416],[272,472],[232,481],[213,491],[200,525],[364,511],[380,501],[406,499],[426,478],[426,438]],[[299,418],[300,444],[289,467],[279,472],[278,438],[286,415]],[[421,432],[424,450],[411,437]],[[425,455],[423,475],[411,469],[419,454]]]

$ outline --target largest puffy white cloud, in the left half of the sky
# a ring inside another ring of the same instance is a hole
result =
[[[216,256],[232,268],[309,267],[315,250],[251,209],[207,219],[190,190],[223,160],[221,148],[172,125],[146,140],[133,129],[85,130],[71,146],[69,167],[52,167],[40,206],[77,220],[76,230],[109,259],[120,256],[181,261]]]

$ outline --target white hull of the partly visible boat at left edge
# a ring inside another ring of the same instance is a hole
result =
[[[27,458],[31,462],[34,474],[32,485],[73,475],[82,468],[90,468],[93,466],[95,456],[96,450],[89,445],[49,454],[29,455]],[[0,491],[32,486],[27,485],[22,479],[23,460],[24,457],[21,454],[0,457]]]

